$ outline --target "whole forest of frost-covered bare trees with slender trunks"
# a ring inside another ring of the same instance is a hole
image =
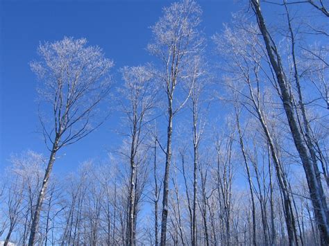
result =
[[[146,64],[35,47],[44,152],[1,170],[0,245],[329,245],[329,2],[236,4],[211,37],[198,2],[164,4]],[[108,121],[107,159],[53,172]]]

